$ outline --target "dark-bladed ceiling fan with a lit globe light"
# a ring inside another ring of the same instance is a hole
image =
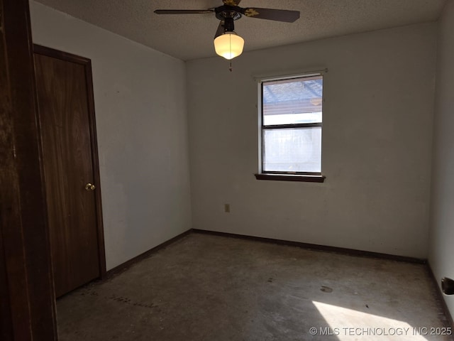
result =
[[[242,16],[293,23],[299,18],[299,11],[284,9],[260,9],[258,7],[242,8],[241,0],[222,0],[223,5],[211,9],[157,9],[156,14],[204,14],[215,13],[219,23],[214,35],[214,48],[218,55],[232,59],[243,53],[244,39],[234,31],[234,21]]]

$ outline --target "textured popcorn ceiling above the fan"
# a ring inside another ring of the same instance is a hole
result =
[[[244,17],[235,31],[245,51],[435,21],[446,0],[243,0],[242,7],[300,11],[294,23]],[[182,60],[216,55],[214,13],[157,15],[155,9],[209,9],[221,0],[38,0]]]

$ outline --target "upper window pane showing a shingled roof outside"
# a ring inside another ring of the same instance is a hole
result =
[[[263,82],[263,125],[321,123],[323,77]]]

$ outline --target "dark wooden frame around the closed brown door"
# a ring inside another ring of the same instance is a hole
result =
[[[94,92],[93,92],[93,75],[92,75],[92,60],[84,58],[72,53],[55,50],[42,45],[33,44],[33,53],[38,55],[46,55],[51,58],[57,58],[72,63],[77,63],[84,66],[85,82],[87,85],[88,99],[88,114],[89,114],[89,129],[90,129],[90,146],[92,147],[92,165],[93,165],[93,181],[96,185],[94,191],[95,201],[95,216],[96,216],[96,236],[98,244],[98,259],[99,259],[99,277],[106,278],[106,251],[104,247],[104,224],[102,219],[102,204],[101,204],[101,178],[99,176],[99,157],[98,157],[98,139],[96,136],[96,117],[94,112]],[[40,121],[40,113],[38,112],[38,121]],[[43,166],[41,166],[43,167]],[[44,179],[45,181],[45,179]]]

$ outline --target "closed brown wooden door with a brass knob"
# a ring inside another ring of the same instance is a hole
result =
[[[90,61],[35,45],[55,295],[104,275]]]

